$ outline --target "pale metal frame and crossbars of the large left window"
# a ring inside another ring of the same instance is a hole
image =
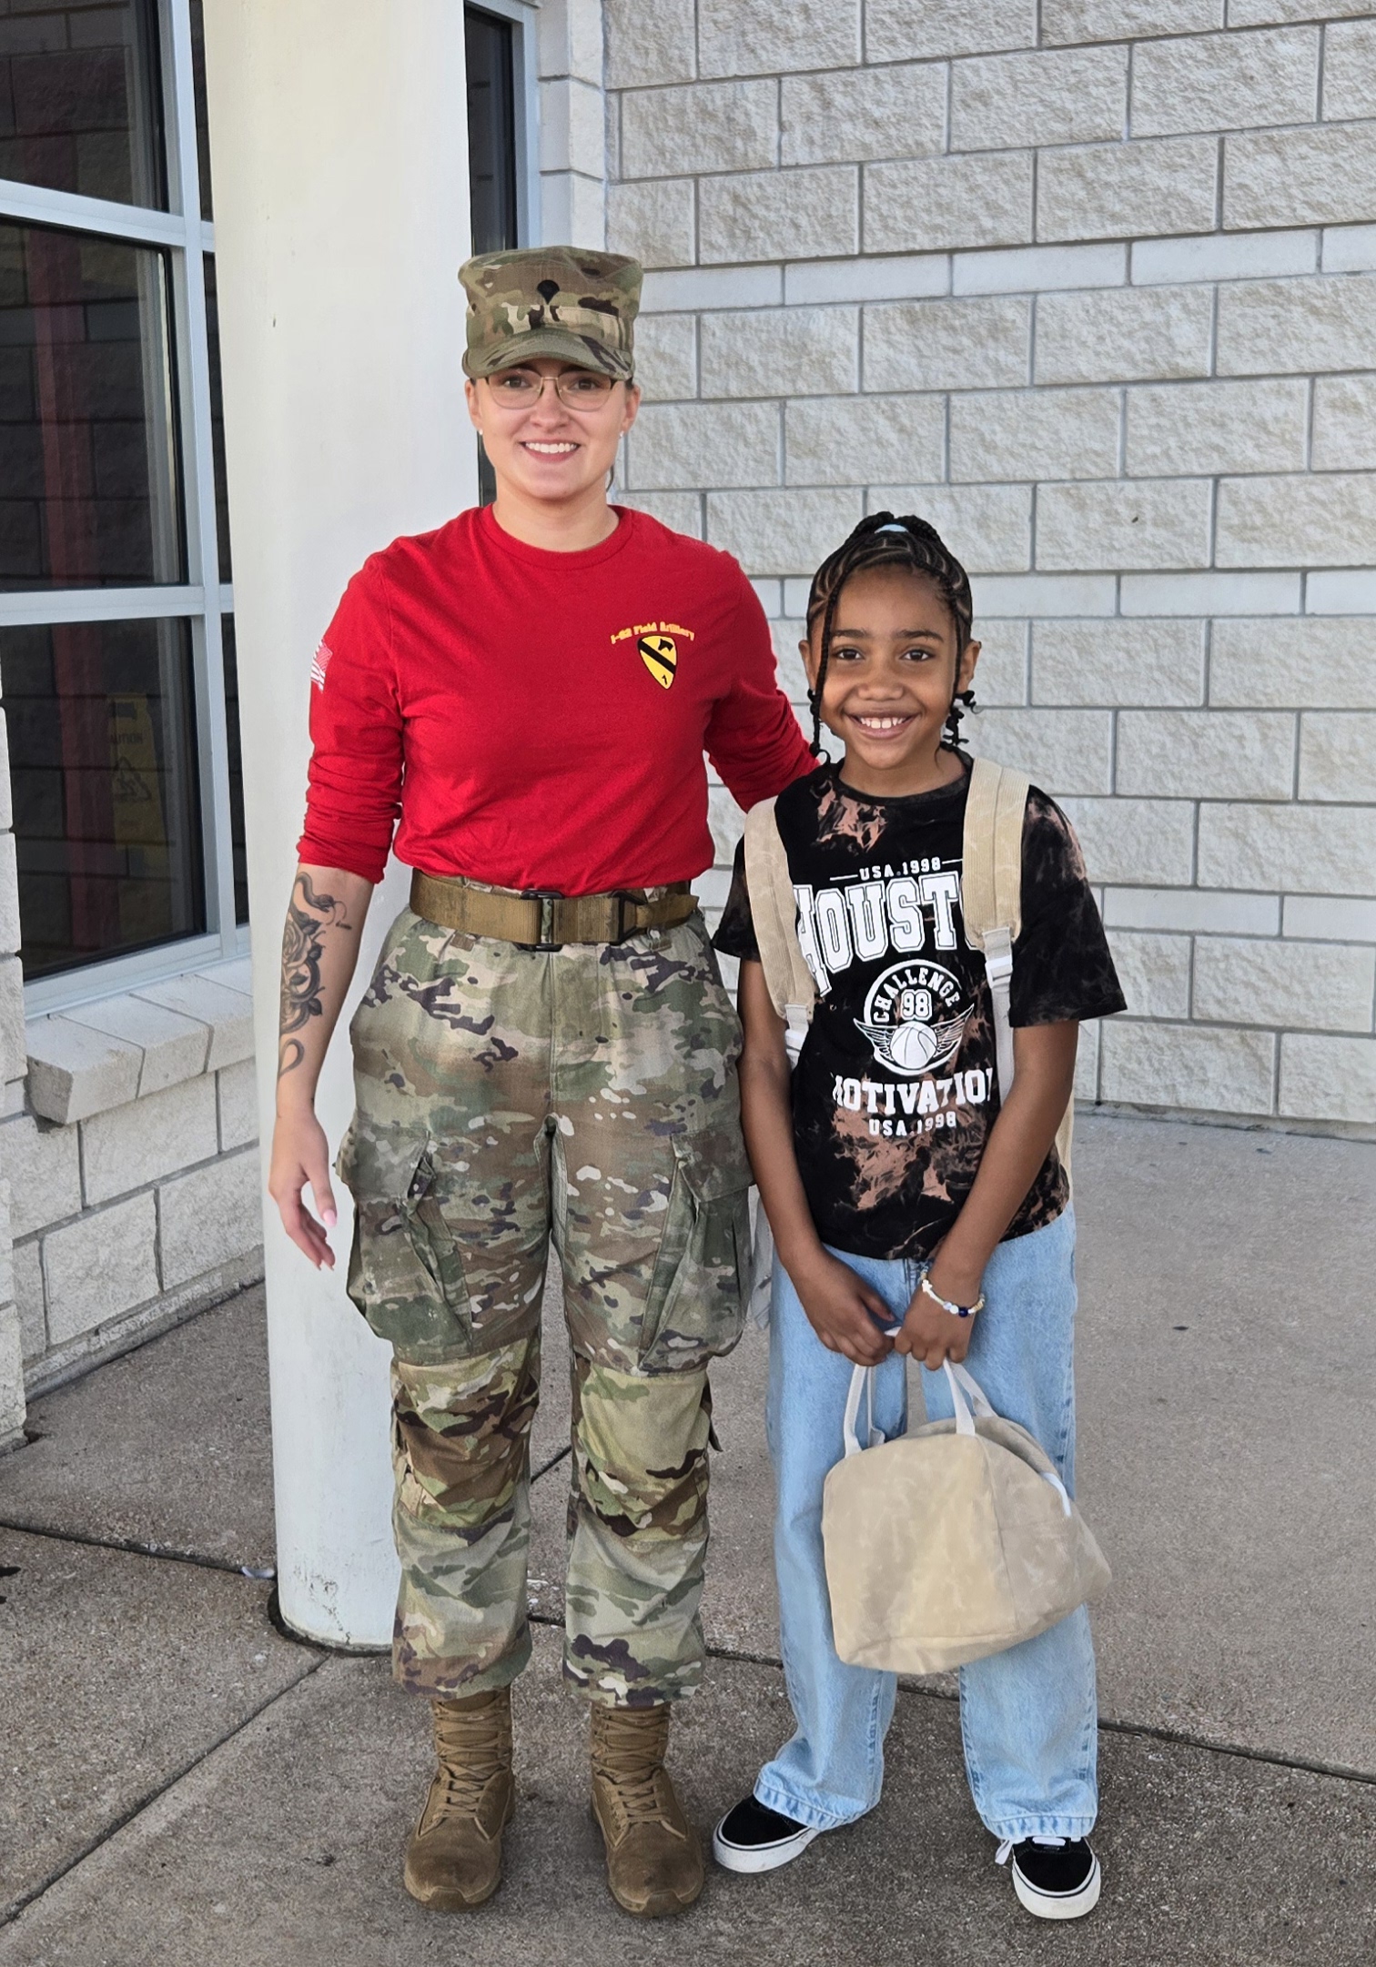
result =
[[[506,12],[506,0],[484,0]],[[522,14],[526,10],[522,8]],[[526,33],[524,41],[533,35]],[[187,580],[144,588],[28,588],[0,594],[0,626],[53,622],[134,622],[179,618],[191,624],[197,757],[201,789],[201,852],[207,932],[179,936],[132,956],[108,956],[24,985],[28,1017],[112,997],[156,978],[181,976],[248,952],[248,924],[234,921],[234,858],[230,830],[228,724],[224,706],[224,618],[234,590],[220,582],[215,517],[215,443],[211,429],[211,356],[205,305],[205,256],[215,252],[215,226],[201,216],[195,73],[191,61],[191,0],[157,0],[161,57],[167,210],[118,205],[79,193],[0,179],[0,220],[59,226],[159,246],[169,260],[171,352],[175,417],[185,502]]]

